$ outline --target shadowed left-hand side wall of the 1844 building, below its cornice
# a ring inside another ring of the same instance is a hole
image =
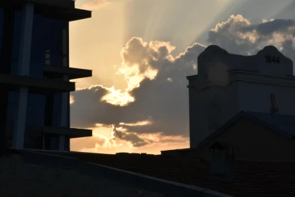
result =
[[[238,96],[238,84],[202,91],[189,89],[190,148],[196,148],[199,142],[239,113]],[[209,127],[214,120],[218,125]]]

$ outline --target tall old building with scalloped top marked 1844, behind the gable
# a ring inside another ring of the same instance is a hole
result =
[[[198,75],[187,79],[190,148],[241,110],[295,115],[293,63],[274,46],[254,56],[208,46],[198,57]]]

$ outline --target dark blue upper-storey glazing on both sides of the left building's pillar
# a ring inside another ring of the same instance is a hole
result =
[[[15,28],[13,31],[13,66],[11,67],[13,75],[17,73],[18,68],[21,23],[22,12],[17,11],[15,12]],[[68,22],[34,14],[30,76],[43,77],[44,65],[68,66]]]

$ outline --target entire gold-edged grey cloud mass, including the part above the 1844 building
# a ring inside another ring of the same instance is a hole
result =
[[[239,54],[254,54],[271,44],[294,60],[294,25],[294,20],[252,24],[242,15],[232,15],[208,32],[208,44]],[[188,136],[186,76],[197,74],[197,58],[205,47],[195,43],[179,56],[172,57],[174,47],[169,42],[147,43],[140,38],[130,39],[121,52],[123,63],[117,68],[118,74],[125,76],[128,89],[118,91],[94,86],[75,91],[72,94],[75,102],[71,105],[71,125],[115,125],[113,136],[130,141],[136,147],[153,143],[141,134]],[[118,102],[118,98],[125,100],[119,99]],[[140,124],[142,121],[150,124]],[[133,124],[120,125],[120,122]],[[118,127],[123,129],[116,129]]]

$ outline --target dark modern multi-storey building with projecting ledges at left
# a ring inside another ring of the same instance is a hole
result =
[[[92,136],[70,128],[70,80],[92,70],[69,66],[69,22],[91,18],[71,0],[0,2],[1,145],[70,150],[70,139]]]

